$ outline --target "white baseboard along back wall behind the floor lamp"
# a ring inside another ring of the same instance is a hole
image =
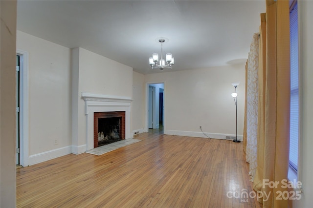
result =
[[[236,138],[236,134],[220,134],[220,133],[207,133],[207,132],[204,132],[204,133],[212,139],[226,139],[226,136]],[[164,134],[186,136],[186,137],[208,138],[202,132],[197,132],[197,131],[164,130]],[[237,139],[240,141],[243,141],[243,135],[237,135]],[[233,140],[233,138],[227,139],[227,140]]]

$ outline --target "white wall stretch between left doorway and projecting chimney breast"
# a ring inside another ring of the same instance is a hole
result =
[[[44,154],[51,150],[63,151],[61,155],[70,153],[68,148],[71,145],[71,53],[67,47],[21,31],[17,31],[17,49],[27,51],[29,57],[31,165],[42,162]],[[57,145],[54,143],[55,140]],[[45,159],[51,158],[48,156]]]

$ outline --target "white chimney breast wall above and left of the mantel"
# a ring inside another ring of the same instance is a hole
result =
[[[72,117],[73,123],[77,123],[72,129],[72,153],[80,154],[86,151],[86,115],[82,92],[132,98],[133,68],[83,48],[72,49],[72,66],[72,83],[75,83],[72,93],[78,99],[72,101],[77,109]],[[130,129],[133,129],[132,124]]]

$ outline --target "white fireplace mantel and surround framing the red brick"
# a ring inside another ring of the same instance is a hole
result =
[[[82,92],[85,100],[86,145],[93,149],[93,114],[94,112],[125,111],[125,139],[131,138],[131,103],[130,97],[100,95]]]

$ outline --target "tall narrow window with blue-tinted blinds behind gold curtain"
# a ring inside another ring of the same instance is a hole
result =
[[[299,139],[299,70],[298,70],[298,11],[297,1],[290,9],[290,52],[291,52],[291,102],[290,102],[290,151],[289,165],[294,172],[298,169]],[[290,170],[291,171],[291,170]],[[290,178],[291,180],[291,178]]]

